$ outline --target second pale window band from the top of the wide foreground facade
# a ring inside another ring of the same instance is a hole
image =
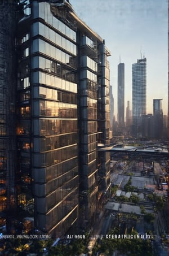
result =
[[[54,44],[60,46],[61,48],[69,51],[73,55],[77,55],[76,45],[67,40],[66,38],[60,36],[60,34],[56,33],[52,29],[46,27],[46,25],[36,22],[33,24],[33,36],[37,36],[40,34],[41,36],[47,38]]]

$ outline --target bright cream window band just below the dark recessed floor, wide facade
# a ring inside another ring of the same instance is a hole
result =
[[[70,92],[77,93],[77,84],[60,79],[43,72],[33,72],[34,84],[45,84],[48,86],[56,87],[62,90],[69,90]]]

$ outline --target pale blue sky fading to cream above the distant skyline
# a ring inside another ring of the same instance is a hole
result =
[[[153,99],[163,99],[167,115],[168,39],[167,0],[69,0],[75,13],[105,39],[111,52],[110,85],[117,116],[117,66],[125,66],[125,109],[132,109],[132,63],[147,59],[147,114],[153,114]]]

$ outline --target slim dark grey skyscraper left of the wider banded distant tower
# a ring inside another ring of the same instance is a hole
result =
[[[124,63],[118,64],[118,99],[117,99],[117,111],[118,111],[118,125],[124,126]]]

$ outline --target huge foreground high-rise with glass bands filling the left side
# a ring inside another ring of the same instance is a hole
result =
[[[110,52],[69,1],[2,0],[0,14],[1,209],[60,237],[109,193]]]

